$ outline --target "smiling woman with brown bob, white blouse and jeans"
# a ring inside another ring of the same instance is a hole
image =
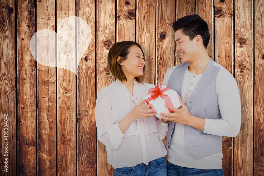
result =
[[[145,72],[143,50],[133,41],[115,43],[108,65],[115,82],[102,89],[96,100],[98,140],[107,150],[108,164],[115,175],[167,175],[162,139],[168,124],[155,117],[152,104],[142,97],[154,84],[141,81]]]

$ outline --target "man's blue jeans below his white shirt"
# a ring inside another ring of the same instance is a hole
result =
[[[168,161],[168,176],[223,176],[223,169],[193,169],[174,165]]]

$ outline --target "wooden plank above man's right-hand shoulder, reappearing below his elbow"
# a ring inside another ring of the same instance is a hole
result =
[[[215,51],[214,59],[234,75],[233,1],[215,0]],[[233,175],[233,138],[223,136],[224,175]]]

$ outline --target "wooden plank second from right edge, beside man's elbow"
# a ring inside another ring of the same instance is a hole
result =
[[[244,7],[247,7],[245,11]],[[253,3],[235,1],[235,79],[241,98],[241,130],[234,138],[234,175],[253,175]]]

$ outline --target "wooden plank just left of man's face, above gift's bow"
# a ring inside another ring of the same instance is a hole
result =
[[[155,84],[162,85],[168,68],[174,66],[175,32],[172,23],[175,21],[175,1],[157,1],[156,13],[156,65]]]

